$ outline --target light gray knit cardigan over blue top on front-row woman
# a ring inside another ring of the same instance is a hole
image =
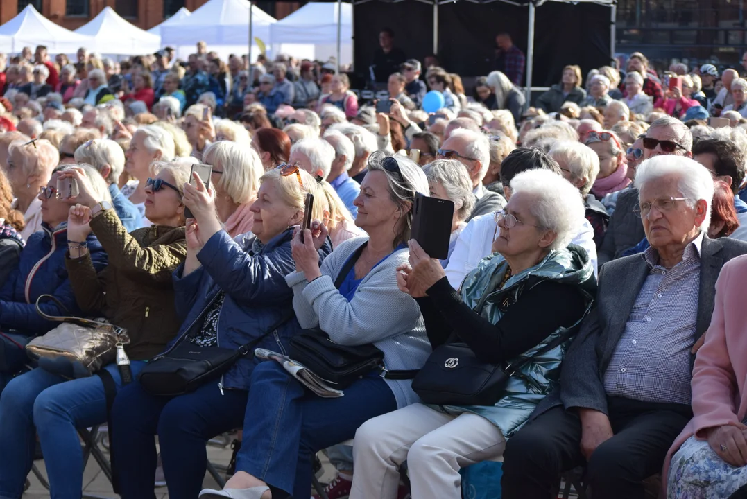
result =
[[[309,283],[303,272],[285,277],[293,288],[293,307],[304,329],[320,327],[340,345],[373,343],[384,352],[390,370],[419,369],[430,354],[420,308],[397,288],[397,267],[407,263],[409,251],[401,249],[379,263],[363,278],[350,302],[335,288],[335,279],[347,259],[368,241],[368,236],[343,242],[324,259],[322,276]],[[412,380],[386,380],[397,407],[418,402]]]

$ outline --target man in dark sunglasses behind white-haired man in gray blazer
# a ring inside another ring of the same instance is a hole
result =
[[[651,123],[642,137],[642,161],[662,155],[692,157],[692,134],[683,122],[672,116],[663,116]],[[643,227],[633,214],[638,204],[638,189],[632,184],[617,197],[610,225],[599,248],[599,266],[622,257],[644,238]]]

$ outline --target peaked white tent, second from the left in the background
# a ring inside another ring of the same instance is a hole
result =
[[[99,54],[152,54],[161,48],[161,37],[125,21],[111,7],[105,7],[75,33],[93,38],[88,48]]]

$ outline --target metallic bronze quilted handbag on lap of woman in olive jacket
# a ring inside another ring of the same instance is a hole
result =
[[[48,358],[78,363],[84,370],[75,372],[79,377],[85,377],[114,362],[117,345],[126,345],[130,342],[126,330],[105,321],[48,316],[39,307],[42,299],[54,301],[65,310],[63,304],[52,295],[41,295],[37,298],[37,313],[48,321],[62,324],[43,336],[37,336],[26,345],[26,354],[33,360]]]

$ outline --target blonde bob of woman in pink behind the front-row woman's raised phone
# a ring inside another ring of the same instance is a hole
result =
[[[214,142],[205,148],[202,161],[223,172],[217,185],[232,201],[245,204],[256,197],[264,168],[254,149],[235,142]]]

